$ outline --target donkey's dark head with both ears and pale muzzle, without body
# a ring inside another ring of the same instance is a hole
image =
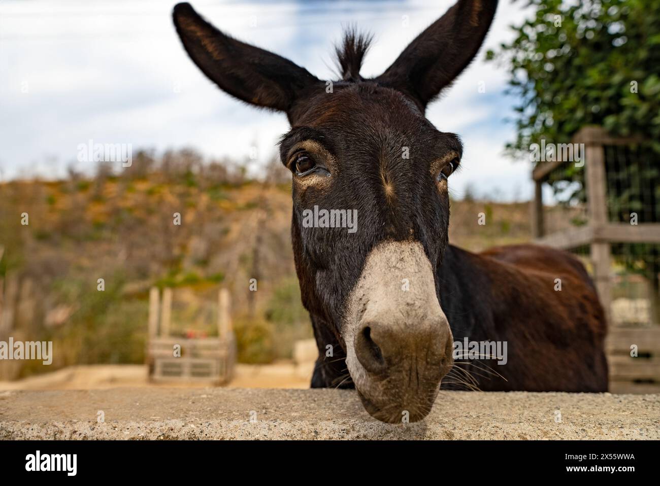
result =
[[[359,73],[368,39],[349,32],[335,82],[226,36],[187,3],[174,7],[183,46],[205,75],[288,116],[280,153],[293,177],[294,257],[321,351],[312,385],[350,378],[383,421],[425,417],[452,365],[437,274],[447,178],[462,147],[424,111],[476,55],[496,5],[459,0],[373,79]],[[351,215],[356,230],[341,227]]]

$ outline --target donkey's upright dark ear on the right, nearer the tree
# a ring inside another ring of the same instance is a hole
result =
[[[458,0],[376,80],[408,94],[422,109],[426,108],[475,57],[497,3],[498,0]]]

